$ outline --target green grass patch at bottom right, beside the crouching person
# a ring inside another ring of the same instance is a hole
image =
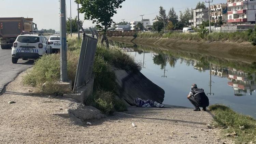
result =
[[[209,109],[215,115],[215,122],[219,127],[223,128],[223,135],[235,132],[238,135],[236,138],[233,138],[236,143],[256,143],[255,119],[250,116],[238,114],[224,105],[211,105]]]

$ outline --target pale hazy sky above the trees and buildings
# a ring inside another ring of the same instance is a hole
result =
[[[186,8],[195,8],[199,0],[126,0],[122,8],[117,10],[113,19],[115,22],[141,20],[141,14],[145,19],[152,19],[158,15],[159,6],[163,6],[168,13],[173,6],[177,14]],[[200,0],[201,1],[201,0]],[[213,3],[226,3],[227,0],[213,0]],[[70,16],[70,0],[66,0],[67,16]],[[77,4],[71,0],[71,16],[77,16]],[[59,30],[59,0],[0,0],[0,17],[31,17],[38,28]],[[80,19],[84,15],[80,14]],[[89,20],[84,20],[83,27],[90,27]]]

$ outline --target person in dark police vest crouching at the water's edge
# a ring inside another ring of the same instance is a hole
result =
[[[197,88],[196,84],[191,86],[191,91],[187,98],[195,106],[194,111],[201,111],[199,107],[203,107],[203,111],[206,111],[206,107],[209,106],[209,99],[205,95],[204,90]]]

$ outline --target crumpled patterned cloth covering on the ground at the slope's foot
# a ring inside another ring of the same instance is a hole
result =
[[[165,105],[160,104],[156,101],[153,100],[143,100],[141,98],[136,98],[134,100],[134,102],[136,103],[136,106],[138,107],[163,107]]]

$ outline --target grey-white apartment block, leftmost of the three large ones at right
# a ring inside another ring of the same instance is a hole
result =
[[[209,9],[203,8],[203,9],[194,9],[194,23],[191,25],[194,25],[194,27],[198,27],[202,24],[203,21],[209,20]],[[191,22],[191,21],[190,21]]]

